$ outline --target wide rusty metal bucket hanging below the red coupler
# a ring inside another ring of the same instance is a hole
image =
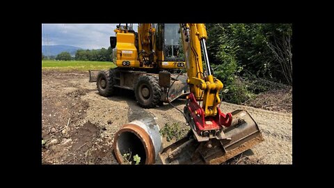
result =
[[[264,141],[247,111],[232,112],[232,125],[223,130],[226,139],[198,142],[192,131],[159,153],[163,164],[221,164]]]

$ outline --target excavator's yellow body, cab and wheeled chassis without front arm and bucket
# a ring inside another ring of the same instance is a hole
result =
[[[141,107],[154,108],[189,94],[186,75],[173,74],[185,66],[179,24],[138,24],[138,32],[133,24],[119,24],[114,31],[110,43],[117,68],[90,70],[90,82],[96,81],[100,95],[131,90]],[[170,80],[172,89],[161,87]]]

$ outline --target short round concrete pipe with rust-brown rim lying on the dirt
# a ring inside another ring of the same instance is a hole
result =
[[[134,164],[134,155],[141,157],[139,164],[154,164],[161,149],[159,126],[153,118],[142,118],[120,128],[113,139],[113,151],[120,164],[126,164],[125,153],[131,153],[129,161]]]

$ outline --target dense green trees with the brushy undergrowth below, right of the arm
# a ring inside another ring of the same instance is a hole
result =
[[[292,85],[292,24],[206,26],[209,60],[223,81],[225,101],[241,104],[272,89],[270,81]]]

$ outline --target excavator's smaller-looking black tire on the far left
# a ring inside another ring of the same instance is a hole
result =
[[[100,95],[109,97],[115,93],[113,70],[102,70],[97,75],[96,86]]]

